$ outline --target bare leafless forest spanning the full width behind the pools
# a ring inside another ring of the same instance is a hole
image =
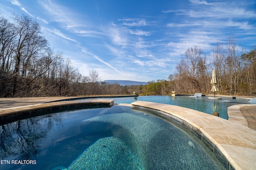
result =
[[[62,52],[54,51],[40,25],[29,16],[0,17],[0,97],[210,94],[216,70],[219,94],[255,96],[256,47],[243,48],[234,35],[216,40],[210,53],[188,47],[168,80],[120,86],[102,82],[97,70],[79,73]]]

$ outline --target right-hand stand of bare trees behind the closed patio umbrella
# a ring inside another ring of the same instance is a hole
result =
[[[177,91],[179,94],[210,94],[212,70],[215,70],[219,94],[255,96],[255,47],[247,52],[232,35],[226,42],[217,40],[210,53],[203,53],[200,47],[188,48],[185,57],[177,63],[174,74],[168,80],[148,82],[143,93],[170,95],[172,91]]]

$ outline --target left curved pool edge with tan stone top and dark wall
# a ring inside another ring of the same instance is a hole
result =
[[[0,125],[17,121],[20,119],[48,114],[50,112],[85,109],[95,107],[111,107],[114,100],[92,99],[92,100],[69,100],[61,102],[47,102],[26,106],[10,107],[0,109]]]

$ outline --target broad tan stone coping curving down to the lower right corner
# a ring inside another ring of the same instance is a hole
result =
[[[256,168],[256,131],[249,127],[180,106],[136,101],[132,107],[182,125],[202,140],[228,170]]]

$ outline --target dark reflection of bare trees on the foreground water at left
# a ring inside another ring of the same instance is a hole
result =
[[[47,119],[45,119],[48,117]],[[0,158],[28,160],[40,152],[40,141],[61,123],[58,114],[44,115],[2,125],[0,127]],[[19,155],[19,156],[18,156]]]

